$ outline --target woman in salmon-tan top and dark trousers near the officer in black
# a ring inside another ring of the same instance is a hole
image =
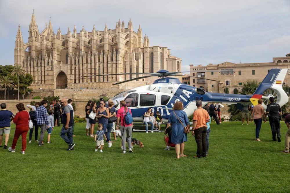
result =
[[[251,121],[254,120],[255,125],[256,125],[256,141],[261,141],[259,139],[259,134],[260,134],[261,126],[262,126],[263,116],[264,116],[264,122],[266,122],[265,111],[264,111],[264,107],[262,106],[262,103],[263,103],[263,100],[259,99],[258,105],[254,106],[252,110],[252,116],[251,116]]]

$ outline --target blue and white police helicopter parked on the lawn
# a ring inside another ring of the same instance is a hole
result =
[[[144,112],[146,112],[148,108],[151,108],[151,112],[159,111],[162,115],[163,122],[167,123],[169,115],[172,112],[172,107],[177,101],[183,102],[183,111],[186,112],[188,117],[193,115],[193,112],[197,109],[195,105],[196,100],[202,100],[202,105],[204,106],[209,102],[219,102],[222,104],[251,102],[253,105],[256,105],[258,104],[259,99],[263,99],[265,102],[262,105],[264,106],[264,109],[266,109],[270,97],[276,98],[276,103],[280,106],[283,106],[288,102],[289,98],[282,89],[282,84],[287,71],[288,69],[271,69],[253,95],[210,93],[188,84],[182,84],[178,78],[169,77],[183,76],[181,73],[184,72],[159,70],[156,73],[118,73],[118,75],[142,74],[147,76],[132,78],[122,82],[117,82],[113,85],[153,76],[157,76],[159,79],[155,80],[153,84],[136,87],[119,93],[111,99],[114,102],[116,110],[120,108],[119,102],[125,100],[127,106],[132,111],[133,120],[135,122],[143,122]],[[106,74],[93,76],[106,76]],[[269,89],[271,89],[271,93],[263,94],[264,91]],[[272,90],[274,93],[272,93]]]

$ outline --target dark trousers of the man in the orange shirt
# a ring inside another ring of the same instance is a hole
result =
[[[206,157],[206,128],[207,127],[200,127],[194,130],[195,142],[197,144],[197,157]]]

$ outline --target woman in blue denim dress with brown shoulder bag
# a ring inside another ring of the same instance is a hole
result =
[[[184,142],[187,141],[187,134],[184,133],[184,126],[189,125],[189,120],[183,109],[183,103],[178,101],[173,106],[169,115],[168,123],[172,125],[171,143],[175,144],[176,158],[187,157],[183,154]],[[175,115],[176,114],[176,115]],[[183,123],[181,124],[177,117]]]

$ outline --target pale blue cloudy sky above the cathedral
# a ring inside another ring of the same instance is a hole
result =
[[[13,65],[18,25],[24,43],[34,9],[39,32],[51,17],[54,32],[66,34],[74,25],[91,31],[125,27],[131,18],[134,31],[141,25],[150,46],[168,47],[189,65],[272,62],[290,52],[290,0],[191,1],[0,1],[0,65]]]

